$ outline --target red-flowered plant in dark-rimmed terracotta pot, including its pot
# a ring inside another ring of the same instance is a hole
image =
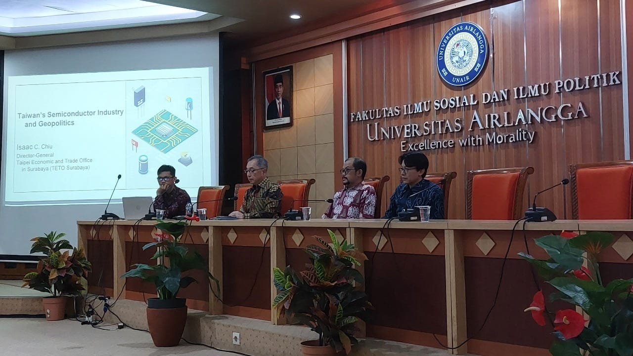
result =
[[[172,347],[180,343],[187,321],[187,305],[185,298],[177,296],[182,288],[196,282],[192,276],[184,275],[187,271],[204,271],[208,278],[215,281],[216,291],[220,290],[220,282],[208,272],[208,262],[197,251],[181,243],[185,225],[184,221],[158,220],[158,230],[154,233],[156,242],[143,247],[143,250],[156,248],[152,259],[158,260],[158,264],[134,264],[133,269],[122,275],[122,278],[137,277],[156,285],[158,297],[147,299],[146,313],[149,333],[157,347]]]

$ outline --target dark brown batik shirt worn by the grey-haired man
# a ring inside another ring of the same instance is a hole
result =
[[[239,211],[244,214],[244,219],[279,218],[282,197],[284,193],[279,185],[266,177],[260,184],[246,190],[244,202]]]

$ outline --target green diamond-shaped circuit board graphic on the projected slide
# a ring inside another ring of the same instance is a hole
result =
[[[169,152],[196,132],[197,129],[194,126],[166,110],[161,110],[132,131],[141,140],[163,153]]]

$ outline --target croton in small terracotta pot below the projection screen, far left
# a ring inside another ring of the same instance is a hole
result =
[[[51,297],[42,298],[44,315],[49,321],[64,319],[66,296],[79,295],[85,290],[84,276],[92,270],[84,250],[73,248],[68,240],[62,239],[64,236],[65,233],[51,231],[31,239],[30,253],[40,252],[45,256],[37,263],[37,272],[27,273],[22,279],[23,287],[51,293]]]

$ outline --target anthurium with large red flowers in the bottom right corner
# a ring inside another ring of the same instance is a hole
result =
[[[551,310],[539,291],[525,309],[537,324],[553,326],[558,340],[549,349],[552,355],[633,355],[633,278],[615,279],[605,286],[598,266],[598,255],[611,242],[613,235],[603,232],[549,235],[536,239],[549,255],[548,260],[519,254],[555,288],[549,301],[562,300],[576,306]]]

